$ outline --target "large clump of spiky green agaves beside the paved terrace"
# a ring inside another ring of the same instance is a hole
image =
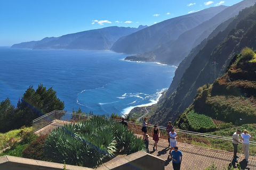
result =
[[[44,150],[53,162],[95,167],[106,157],[113,157],[117,147],[131,154],[145,145],[122,124],[105,116],[92,116],[87,121],[53,130],[45,141]]]

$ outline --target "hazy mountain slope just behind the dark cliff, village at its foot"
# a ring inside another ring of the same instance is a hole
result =
[[[143,60],[178,65],[190,53],[191,49],[200,44],[205,38],[209,37],[218,25],[237,15],[243,8],[254,5],[255,2],[255,0],[245,0],[227,7],[211,19],[197,25],[195,28],[183,32],[178,39],[171,39],[162,46],[151,49],[151,51],[146,54],[127,57],[126,60]],[[147,29],[149,28],[150,27]],[[116,43],[118,43],[118,41]],[[113,46],[115,46],[115,44]]]

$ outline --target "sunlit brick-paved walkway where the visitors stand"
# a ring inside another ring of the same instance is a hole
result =
[[[68,122],[65,121],[56,121],[45,126],[41,130],[38,130],[37,134],[43,134],[49,132],[53,128],[57,128],[61,124]],[[141,135],[139,135],[141,136]],[[154,141],[152,138],[149,138],[149,149],[150,154],[158,156],[165,160],[165,170],[172,170],[172,162],[169,157],[170,148],[168,148],[167,140],[159,140],[157,145],[157,150],[154,149]],[[177,142],[177,147],[182,152],[182,163],[181,170],[203,170],[209,167],[212,163],[222,170],[227,165],[231,164],[234,167],[237,166],[237,163],[232,163],[233,153],[226,152],[221,150],[209,149],[204,147],[197,147],[193,145],[188,145],[186,143]],[[256,157],[250,157],[249,162],[247,163],[244,160],[244,155],[239,155],[238,163],[241,165],[242,169],[251,169],[256,170]],[[156,169],[157,170],[157,169]]]

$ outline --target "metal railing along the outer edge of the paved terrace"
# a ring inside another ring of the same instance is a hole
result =
[[[44,116],[38,117],[33,121],[33,132],[43,128],[44,126],[52,123],[53,121],[60,120],[71,123],[77,123],[81,121],[86,121],[92,115],[88,114],[77,114],[70,113],[65,111],[53,111]],[[114,121],[121,122],[121,120],[113,119]],[[134,132],[134,134],[143,135],[141,131],[142,123],[138,122],[129,122],[127,121],[128,128]],[[160,139],[168,140],[168,135],[166,128],[163,126],[158,126],[160,131]],[[147,133],[150,137],[153,135],[154,126],[147,126]],[[175,129],[177,132],[177,142],[186,143],[186,145],[194,145],[202,148],[211,148],[218,149],[222,151],[233,152],[232,138],[230,137],[221,137],[218,135],[212,135],[207,133],[198,133],[185,131],[180,129]],[[256,157],[256,142],[250,141],[250,156]],[[238,153],[243,154],[242,145],[238,145]]]

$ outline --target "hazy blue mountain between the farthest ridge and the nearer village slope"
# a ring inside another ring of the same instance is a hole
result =
[[[210,7],[205,10],[165,20],[146,29],[117,40],[111,50],[118,53],[139,54],[149,52],[176,40],[183,32],[211,19],[227,6]]]

